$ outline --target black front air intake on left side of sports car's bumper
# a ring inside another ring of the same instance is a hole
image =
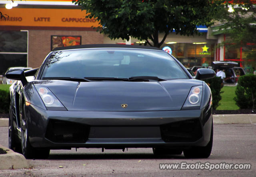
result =
[[[45,138],[54,143],[85,143],[89,132],[89,125],[50,119]]]

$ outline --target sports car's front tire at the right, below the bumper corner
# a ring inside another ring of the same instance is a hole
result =
[[[213,143],[213,123],[210,135],[209,143],[204,147],[191,147],[190,149],[184,149],[183,153],[186,158],[208,158],[212,152]]]

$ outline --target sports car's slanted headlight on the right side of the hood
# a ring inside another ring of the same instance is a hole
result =
[[[202,100],[202,91],[203,91],[203,86],[192,87],[182,107],[182,110],[200,109],[201,100]]]

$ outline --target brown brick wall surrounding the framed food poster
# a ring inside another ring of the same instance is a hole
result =
[[[81,36],[81,44],[103,44],[103,35],[95,31],[60,31],[29,30],[28,31],[28,67],[39,67],[46,55],[51,51],[51,36]]]

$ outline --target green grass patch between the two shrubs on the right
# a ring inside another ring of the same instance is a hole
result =
[[[224,91],[224,93],[221,93],[222,99],[220,100],[220,105],[217,107],[217,110],[236,110],[239,109],[239,107],[236,105],[236,101],[234,100],[234,97],[236,96],[235,93],[236,86],[224,86],[221,91]]]

